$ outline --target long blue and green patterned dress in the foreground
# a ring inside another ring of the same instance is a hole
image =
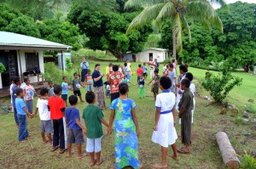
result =
[[[136,109],[137,106],[132,99],[114,99],[109,107],[115,110],[113,125],[116,168],[138,168],[137,132],[131,115],[131,109]]]

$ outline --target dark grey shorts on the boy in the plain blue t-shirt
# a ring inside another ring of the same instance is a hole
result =
[[[84,135],[82,129],[70,129],[68,128],[68,144],[83,144],[84,143]]]

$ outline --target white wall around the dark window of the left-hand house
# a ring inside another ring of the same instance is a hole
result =
[[[25,59],[25,53],[38,53],[38,59],[39,59],[39,68],[41,70],[41,73],[44,73],[44,55],[43,51],[35,51],[35,50],[20,50],[17,51],[17,59],[18,59],[18,71],[19,75],[23,81],[23,73],[26,72],[26,59]],[[20,56],[20,60],[19,60]],[[21,69],[20,69],[21,65]],[[20,71],[21,70],[21,71]],[[29,76],[30,82],[38,82],[38,76]],[[39,81],[42,81],[42,76],[40,76]]]

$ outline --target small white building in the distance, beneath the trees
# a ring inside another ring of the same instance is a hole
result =
[[[164,48],[148,48],[143,52],[136,54],[136,62],[148,62],[149,58],[157,59],[158,62],[163,62],[170,58],[169,50]]]

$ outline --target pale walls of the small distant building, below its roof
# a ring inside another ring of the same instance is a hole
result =
[[[157,59],[158,62],[163,62],[165,59],[169,58],[168,52],[156,51],[156,50],[146,50],[146,51],[136,54],[136,61],[137,62],[148,62],[150,53],[153,54],[153,59]]]

